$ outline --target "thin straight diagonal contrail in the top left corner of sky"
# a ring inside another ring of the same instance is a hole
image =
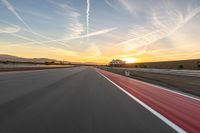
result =
[[[15,8],[7,0],[1,0],[1,1],[6,5],[9,11],[11,11],[30,31],[32,31],[30,26],[28,26],[25,23],[22,17],[16,12]]]

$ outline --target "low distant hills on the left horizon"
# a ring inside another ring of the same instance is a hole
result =
[[[48,59],[48,58],[23,58],[23,57],[17,57],[17,56],[6,55],[6,54],[0,54],[0,61],[36,62],[36,63],[60,62],[58,60]],[[69,63],[69,62],[64,61],[64,63]]]

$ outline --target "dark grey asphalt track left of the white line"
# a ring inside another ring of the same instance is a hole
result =
[[[93,68],[0,74],[0,133],[173,133]]]

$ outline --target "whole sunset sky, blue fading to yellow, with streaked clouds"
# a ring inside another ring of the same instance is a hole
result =
[[[200,58],[200,0],[0,0],[0,54],[106,64]]]

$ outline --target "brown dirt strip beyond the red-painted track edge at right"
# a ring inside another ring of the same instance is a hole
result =
[[[125,75],[125,70],[114,68],[106,68],[106,70]],[[174,89],[184,93],[200,96],[200,78],[198,77],[138,72],[134,70],[130,71],[130,77],[167,87],[169,89]]]

